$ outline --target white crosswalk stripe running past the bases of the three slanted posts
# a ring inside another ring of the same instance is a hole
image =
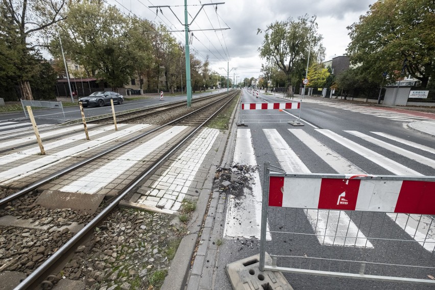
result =
[[[119,124],[118,127],[122,128],[124,126],[126,126],[126,124]],[[150,125],[148,125],[148,126],[150,126]],[[146,127],[148,127],[148,126],[146,126]],[[89,135],[89,137],[93,137],[93,136],[102,134],[104,132],[107,132],[108,130],[113,130],[113,126],[106,126],[106,127],[103,127],[100,130],[89,131],[88,135]],[[69,143],[75,142],[77,140],[85,139],[85,137],[86,136],[84,135],[84,133],[78,133],[78,134],[74,134],[72,136],[69,136],[67,138],[61,139],[61,140],[56,140],[56,141],[53,141],[53,142],[43,143],[45,153],[47,155],[52,155],[49,152],[50,150],[56,149],[57,147],[63,146],[65,144],[69,144]],[[97,140],[101,140],[101,138],[98,138]],[[40,152],[41,151],[40,151],[39,147],[35,146],[35,147],[30,148],[30,149],[26,149],[26,150],[23,150],[23,151],[20,151],[20,152],[16,152],[16,153],[12,153],[12,154],[9,154],[9,155],[5,155],[5,156],[0,157],[0,165],[8,164],[10,162],[14,162],[14,161],[20,160],[22,158],[26,158],[29,155],[36,155],[36,154],[39,154]],[[55,153],[55,155],[59,155],[59,154]]]

